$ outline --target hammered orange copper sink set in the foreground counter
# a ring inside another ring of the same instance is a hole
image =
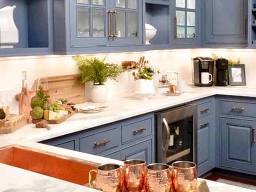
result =
[[[0,163],[79,185],[87,184],[89,182],[89,171],[99,165],[94,162],[20,145],[1,148]]]

